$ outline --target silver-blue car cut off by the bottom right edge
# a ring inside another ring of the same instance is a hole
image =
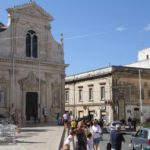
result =
[[[131,147],[133,150],[150,150],[150,128],[141,128],[132,135]]]

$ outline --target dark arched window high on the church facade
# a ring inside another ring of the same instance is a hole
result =
[[[34,31],[29,30],[26,34],[26,56],[37,58],[38,38]]]

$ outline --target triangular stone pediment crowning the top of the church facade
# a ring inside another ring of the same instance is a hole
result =
[[[38,18],[47,18],[50,21],[53,20],[53,17],[50,14],[48,14],[43,8],[37,5],[35,2],[19,5],[14,8],[9,8],[7,9],[7,11],[10,14],[18,13]]]

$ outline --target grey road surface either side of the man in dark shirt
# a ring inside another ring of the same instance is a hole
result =
[[[131,134],[132,133],[130,134],[127,133],[124,135],[126,142],[122,143],[122,150],[130,150],[129,144],[130,144]],[[101,148],[100,150],[106,150],[106,145],[109,142],[109,137],[110,137],[109,133],[103,134],[103,141],[101,141],[100,143],[100,148]]]

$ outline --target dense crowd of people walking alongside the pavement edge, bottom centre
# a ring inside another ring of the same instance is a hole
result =
[[[66,122],[64,122],[66,123]],[[99,120],[81,120],[75,118],[70,123],[70,133],[64,141],[63,150],[70,150],[70,143],[75,140],[76,150],[98,150],[102,140],[102,123]]]

